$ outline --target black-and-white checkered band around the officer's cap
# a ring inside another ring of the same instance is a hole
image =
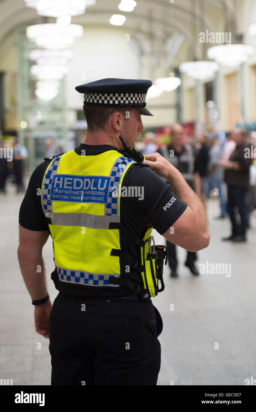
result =
[[[146,105],[146,93],[88,93],[84,95],[83,102],[85,104],[95,105],[120,105],[127,104],[129,106]]]

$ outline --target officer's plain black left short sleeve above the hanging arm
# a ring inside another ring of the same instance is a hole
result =
[[[49,162],[43,162],[32,173],[19,212],[19,224],[25,229],[48,230],[41,206],[41,189],[44,173]]]

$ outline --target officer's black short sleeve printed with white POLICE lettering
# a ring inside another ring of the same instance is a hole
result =
[[[170,185],[145,165],[131,166],[123,185],[137,187],[138,196],[127,198],[129,206],[159,234],[165,233],[187,208],[171,191]]]

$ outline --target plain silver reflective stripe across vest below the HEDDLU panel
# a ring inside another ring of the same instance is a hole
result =
[[[119,216],[99,216],[87,213],[46,212],[45,217],[51,219],[51,225],[84,226],[90,229],[108,229],[110,222],[120,222]]]

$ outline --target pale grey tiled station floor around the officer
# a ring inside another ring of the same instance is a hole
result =
[[[16,195],[11,185],[7,190],[0,195],[0,378],[13,379],[13,385],[50,385],[49,339],[35,332],[34,311],[17,259],[23,194]],[[158,385],[244,385],[245,379],[256,378],[256,217],[251,219],[247,243],[234,244],[220,240],[230,234],[230,223],[214,220],[218,214],[218,200],[210,199],[210,245],[198,252],[196,264],[199,268],[208,261],[216,268],[226,263],[228,271],[192,276],[184,266],[185,250],[177,248],[180,276],[171,278],[168,265],[164,267],[165,290],[152,298],[164,323]],[[164,242],[155,231],[154,236],[156,244]],[[58,291],[50,278],[51,239],[43,256],[53,302]]]

